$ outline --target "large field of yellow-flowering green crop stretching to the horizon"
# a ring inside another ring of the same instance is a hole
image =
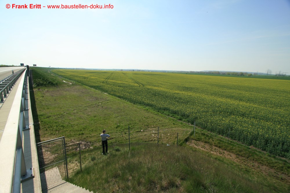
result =
[[[289,80],[157,72],[52,72],[290,159]]]

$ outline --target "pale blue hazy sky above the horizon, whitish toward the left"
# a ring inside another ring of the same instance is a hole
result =
[[[0,33],[0,64],[290,74],[289,0],[0,0]]]

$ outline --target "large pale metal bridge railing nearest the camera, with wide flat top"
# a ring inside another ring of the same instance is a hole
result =
[[[22,134],[29,129],[25,124],[24,111],[27,88],[27,69],[21,77],[14,101],[0,141],[0,192],[20,192],[21,182],[33,176],[33,168],[26,170]]]

